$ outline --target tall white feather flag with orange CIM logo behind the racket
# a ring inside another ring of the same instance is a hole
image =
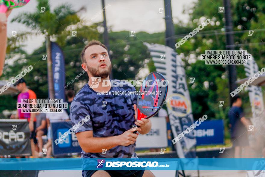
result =
[[[144,43],[150,51],[156,71],[163,74],[169,82],[167,97],[173,97],[167,103],[170,125],[174,137],[194,123],[189,90],[186,83],[182,60],[175,50],[160,44]],[[176,143],[180,158],[195,157],[196,139],[193,133],[187,134]]]

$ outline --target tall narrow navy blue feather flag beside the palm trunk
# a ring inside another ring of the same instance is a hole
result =
[[[60,46],[54,42],[51,42],[51,60],[55,98],[64,99],[65,102],[64,54]]]

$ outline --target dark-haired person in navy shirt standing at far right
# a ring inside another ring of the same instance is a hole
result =
[[[235,150],[235,158],[242,157],[242,151],[249,149],[248,127],[253,125],[249,119],[244,116],[242,99],[236,95],[232,97],[232,107],[229,109],[229,127],[231,128],[231,140]],[[247,153],[245,153],[246,155]]]

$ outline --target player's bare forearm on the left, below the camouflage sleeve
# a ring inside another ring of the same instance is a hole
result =
[[[120,145],[118,136],[89,137],[81,147],[85,152],[102,153],[102,149],[109,150],[118,145]]]

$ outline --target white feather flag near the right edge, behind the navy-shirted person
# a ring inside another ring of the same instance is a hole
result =
[[[254,58],[251,56],[252,60],[248,61],[245,67],[245,74],[247,77],[252,77],[255,73],[259,71],[259,67],[255,62]],[[254,127],[257,128],[257,132],[263,132],[265,127],[265,119],[264,119],[264,102],[263,102],[263,94],[262,89],[259,86],[249,85],[247,87],[249,101],[251,104],[251,112],[252,112],[252,123]]]

